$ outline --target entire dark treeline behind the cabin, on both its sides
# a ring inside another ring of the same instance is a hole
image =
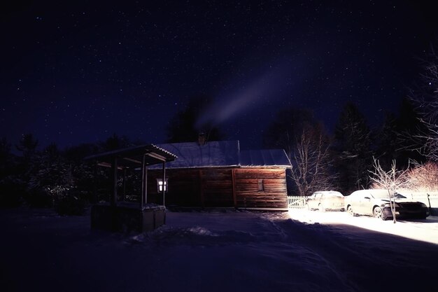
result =
[[[204,103],[190,103],[187,109],[176,114],[167,128],[169,142],[195,141],[199,131],[206,132],[210,141],[223,139],[217,127],[195,122]],[[327,134],[323,123],[304,109],[282,109],[264,133],[265,148],[283,148],[290,158],[288,171],[290,195],[310,195],[316,190],[339,190],[345,195],[354,190],[368,188],[369,170],[373,158],[383,167],[397,160],[399,168],[409,167],[410,160],[425,161],[411,149],[416,133],[423,131],[414,105],[403,99],[397,113],[386,113],[383,125],[372,129],[365,116],[353,103],[341,111],[334,134]],[[184,139],[178,139],[184,137]],[[418,141],[418,140],[416,140]],[[12,146],[6,139],[0,144],[0,205],[55,207],[59,214],[80,214],[86,204],[107,200],[110,184],[108,170],[101,169],[83,158],[87,155],[139,145],[127,137],[113,134],[106,141],[80,144],[59,150],[56,144],[38,149],[38,139],[25,134]],[[13,154],[12,147],[19,151]],[[134,172],[130,181],[139,178]],[[120,186],[122,182],[119,182]],[[139,185],[139,184],[138,184]],[[127,184],[129,194],[139,193],[137,184]],[[133,196],[135,197],[135,196]]]

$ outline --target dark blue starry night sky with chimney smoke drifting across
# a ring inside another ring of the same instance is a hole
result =
[[[215,101],[199,123],[241,148],[260,148],[288,106],[332,131],[352,101],[376,126],[438,36],[421,1],[10,2],[0,9],[0,137],[32,133],[41,147],[113,133],[159,144],[199,95]]]

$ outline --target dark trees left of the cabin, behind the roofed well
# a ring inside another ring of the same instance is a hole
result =
[[[0,143],[0,206],[27,204],[54,207],[59,214],[81,214],[90,202],[107,200],[111,191],[108,170],[83,158],[136,144],[141,142],[113,134],[96,144],[60,150],[55,143],[38,149],[38,139],[33,134],[24,134],[15,145],[3,138]],[[13,147],[18,155],[13,153]],[[136,174],[129,174],[127,178],[136,179]]]

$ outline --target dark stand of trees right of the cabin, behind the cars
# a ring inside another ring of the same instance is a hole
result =
[[[269,126],[264,146],[283,148],[290,158],[288,192],[311,195],[316,190],[339,190],[349,195],[369,188],[373,158],[389,169],[393,160],[406,169],[411,161],[424,162],[418,149],[423,123],[409,99],[403,99],[398,113],[385,113],[383,125],[372,129],[358,106],[342,109],[334,134],[327,133],[311,111],[283,109]]]

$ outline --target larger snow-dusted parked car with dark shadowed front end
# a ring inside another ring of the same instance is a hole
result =
[[[422,202],[408,200],[407,197],[395,193],[395,216],[397,218],[426,218],[429,216],[428,206]],[[390,208],[388,190],[356,190],[345,197],[345,208],[349,214],[369,215],[382,220],[393,218]]]

